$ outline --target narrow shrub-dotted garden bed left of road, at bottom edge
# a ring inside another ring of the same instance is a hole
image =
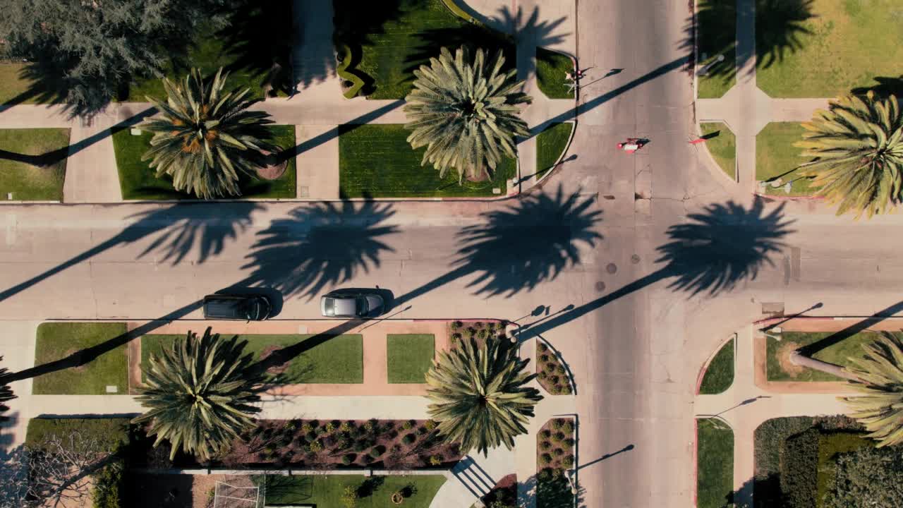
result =
[[[576,425],[573,419],[550,419],[536,435],[536,506],[554,508],[573,503],[566,471],[575,467]]]

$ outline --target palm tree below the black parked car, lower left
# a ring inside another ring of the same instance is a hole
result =
[[[150,422],[154,447],[169,440],[171,459],[180,447],[203,462],[228,451],[260,410],[252,404],[260,400],[264,374],[251,366],[250,354],[242,355],[245,344],[207,328],[200,338],[189,332],[152,354],[144,368],[148,387],[138,397],[148,410],[132,423]]]

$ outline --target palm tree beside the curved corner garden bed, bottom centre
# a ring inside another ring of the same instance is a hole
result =
[[[539,390],[524,386],[535,378],[523,372],[529,360],[518,359],[510,343],[498,339],[478,345],[471,337],[459,344],[439,353],[426,372],[430,417],[446,442],[460,444],[461,453],[477,448],[485,454],[499,444],[511,449],[543,399]]]

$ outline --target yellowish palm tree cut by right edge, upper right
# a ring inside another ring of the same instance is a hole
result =
[[[814,177],[817,193],[859,218],[864,212],[889,212],[903,196],[903,115],[897,98],[851,95],[835,99],[828,110],[803,124],[803,156],[815,160],[799,166]]]

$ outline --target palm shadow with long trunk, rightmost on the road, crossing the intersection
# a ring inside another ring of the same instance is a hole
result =
[[[571,311],[521,327],[518,339],[544,334],[667,278],[673,278],[669,288],[691,296],[703,292],[717,296],[731,291],[738,284],[755,279],[763,265],[774,266],[771,257],[782,251],[782,239],[793,232],[788,229],[791,221],[784,219],[783,210],[782,204],[766,212],[763,202],[756,200],[749,210],[727,202],[688,215],[688,222],[668,228],[669,241],[657,248],[660,257],[656,262],[665,266]]]

